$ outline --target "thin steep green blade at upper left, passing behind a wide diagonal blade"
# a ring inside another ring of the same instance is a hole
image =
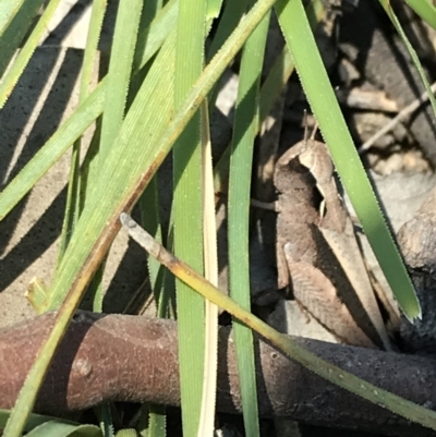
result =
[[[81,69],[81,88],[78,93],[78,105],[82,105],[89,96],[89,86],[92,74],[94,71],[95,60],[97,57],[97,46],[100,38],[100,31],[102,26],[102,19],[106,12],[106,0],[95,0],[93,2],[93,10],[90,14],[88,35],[86,38],[85,53]],[[81,146],[82,141],[78,138],[73,145],[70,165],[70,179],[66,193],[65,213],[62,223],[62,232],[59,244],[59,254],[57,266],[62,259],[66,245],[70,241],[70,235],[73,233],[74,227],[81,214]],[[82,186],[82,191],[83,187]]]

